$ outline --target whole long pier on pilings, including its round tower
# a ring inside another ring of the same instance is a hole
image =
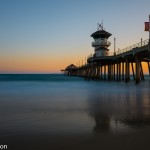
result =
[[[150,76],[150,42],[142,40],[139,43],[126,47],[124,49],[115,51],[114,39],[114,52],[109,52],[108,47],[110,42],[108,38],[111,33],[103,29],[103,25],[99,25],[98,30],[94,32],[94,54],[87,58],[87,63],[81,66],[73,64],[66,67],[65,75],[84,77],[86,80],[115,80],[129,82],[131,75],[136,84],[144,81],[144,72],[142,62],[147,63],[147,69]]]

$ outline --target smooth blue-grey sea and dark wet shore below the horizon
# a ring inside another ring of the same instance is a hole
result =
[[[0,74],[0,146],[150,149],[150,79],[135,85],[63,74]]]

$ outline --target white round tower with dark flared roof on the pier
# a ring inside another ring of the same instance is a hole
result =
[[[108,47],[110,46],[110,42],[108,41],[108,38],[112,34],[105,31],[103,29],[103,24],[98,24],[98,29],[96,32],[94,32],[91,37],[94,38],[94,42],[92,42],[92,47],[95,49],[95,57],[100,57],[100,56],[108,56],[109,55],[109,49]]]

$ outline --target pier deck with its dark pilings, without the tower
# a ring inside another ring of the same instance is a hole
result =
[[[128,82],[132,71],[135,83],[139,83],[144,80],[142,62],[147,62],[150,74],[149,39],[118,50],[108,56],[90,55],[87,58],[87,64],[65,70],[65,73],[84,77],[87,80],[124,80]]]

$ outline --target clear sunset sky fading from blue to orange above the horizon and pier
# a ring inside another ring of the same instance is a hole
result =
[[[85,63],[97,23],[110,51],[148,39],[148,0],[0,0],[0,73],[59,73]]]

